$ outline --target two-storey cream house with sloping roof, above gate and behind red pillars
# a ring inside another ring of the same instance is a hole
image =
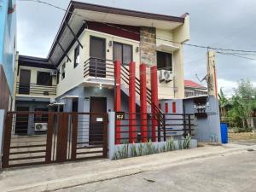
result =
[[[117,60],[136,62],[137,78],[141,63],[148,69],[157,65],[159,75],[164,69],[171,79],[158,81],[159,99],[182,99],[183,46],[172,42],[187,40],[188,14],[174,17],[71,2],[47,58],[20,55],[16,110],[113,111]],[[129,97],[125,86],[122,81],[124,110]]]

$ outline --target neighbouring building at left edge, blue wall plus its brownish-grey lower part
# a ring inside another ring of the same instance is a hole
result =
[[[11,109],[15,79],[16,1],[0,0],[0,109]]]

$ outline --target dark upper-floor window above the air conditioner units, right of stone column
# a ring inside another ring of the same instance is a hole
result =
[[[157,68],[172,71],[172,54],[157,51]]]

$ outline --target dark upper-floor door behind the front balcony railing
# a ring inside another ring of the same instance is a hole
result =
[[[90,76],[106,78],[106,40],[90,37]]]

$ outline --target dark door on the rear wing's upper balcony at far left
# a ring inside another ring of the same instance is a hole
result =
[[[30,92],[30,70],[20,69],[19,93],[29,94]]]

